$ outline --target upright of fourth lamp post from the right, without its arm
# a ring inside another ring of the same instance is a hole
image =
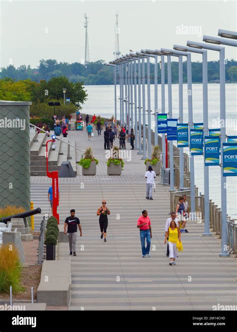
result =
[[[182,56],[178,56],[178,110],[179,110],[179,123],[183,123],[183,78],[182,78]],[[183,161],[183,148],[179,148],[179,188],[184,187],[183,182],[184,161]]]

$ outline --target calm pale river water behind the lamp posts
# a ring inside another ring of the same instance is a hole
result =
[[[83,106],[83,112],[110,117],[114,112],[113,86],[85,86],[88,100]],[[161,108],[161,91],[158,86],[158,109]],[[117,86],[119,95],[119,86]],[[154,110],[154,86],[150,86],[151,109]],[[226,135],[237,135],[236,128],[236,95],[237,84],[226,84],[226,119],[234,120],[232,128],[226,128]],[[147,101],[146,101],[147,102]],[[192,85],[193,122],[203,122],[202,117],[202,85]],[[167,85],[165,85],[165,112],[168,111]],[[119,100],[117,100],[117,114],[119,118]],[[178,85],[172,85],[172,116],[178,118]],[[208,84],[208,126],[218,128],[215,122],[219,119],[219,85]],[[187,114],[187,85],[183,85],[183,122],[188,120]],[[146,122],[147,123],[147,122]],[[154,122],[153,122],[154,124]],[[184,150],[185,151],[185,150]],[[204,192],[203,186],[203,156],[194,156],[195,185],[199,192]],[[236,197],[237,177],[227,177],[227,213],[237,218]],[[220,168],[209,167],[209,198],[220,207]]]

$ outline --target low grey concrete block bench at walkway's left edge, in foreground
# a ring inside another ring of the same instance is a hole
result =
[[[37,301],[51,306],[68,306],[70,301],[69,260],[43,261]]]

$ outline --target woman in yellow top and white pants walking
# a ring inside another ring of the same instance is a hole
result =
[[[170,222],[168,232],[164,238],[164,244],[167,241],[167,237],[168,237],[168,249],[169,249],[169,265],[176,265],[175,262],[175,258],[177,257],[176,243],[177,240],[179,242],[181,241],[181,234],[174,220]]]

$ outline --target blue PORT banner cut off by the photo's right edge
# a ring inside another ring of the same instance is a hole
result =
[[[223,143],[223,176],[237,176],[237,143]]]

